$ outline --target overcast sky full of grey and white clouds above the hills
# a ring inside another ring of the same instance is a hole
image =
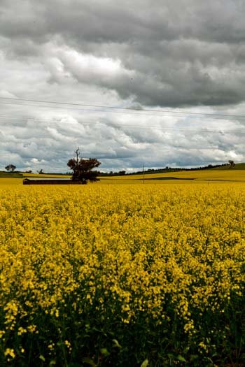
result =
[[[0,170],[66,172],[76,147],[102,171],[245,161],[244,17],[244,0],[0,0]]]

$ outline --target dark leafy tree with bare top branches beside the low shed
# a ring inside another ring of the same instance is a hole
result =
[[[97,178],[99,172],[92,171],[92,169],[99,167],[99,165],[101,164],[100,161],[95,158],[79,158],[79,150],[79,148],[75,150],[76,157],[69,159],[67,163],[67,166],[69,166],[69,168],[71,168],[71,170],[73,171],[72,180],[79,181],[83,185],[86,185],[87,181],[99,181],[99,178]]]

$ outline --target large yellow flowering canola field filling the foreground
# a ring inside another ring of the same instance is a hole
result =
[[[0,366],[245,366],[244,183],[123,180],[1,179]]]

